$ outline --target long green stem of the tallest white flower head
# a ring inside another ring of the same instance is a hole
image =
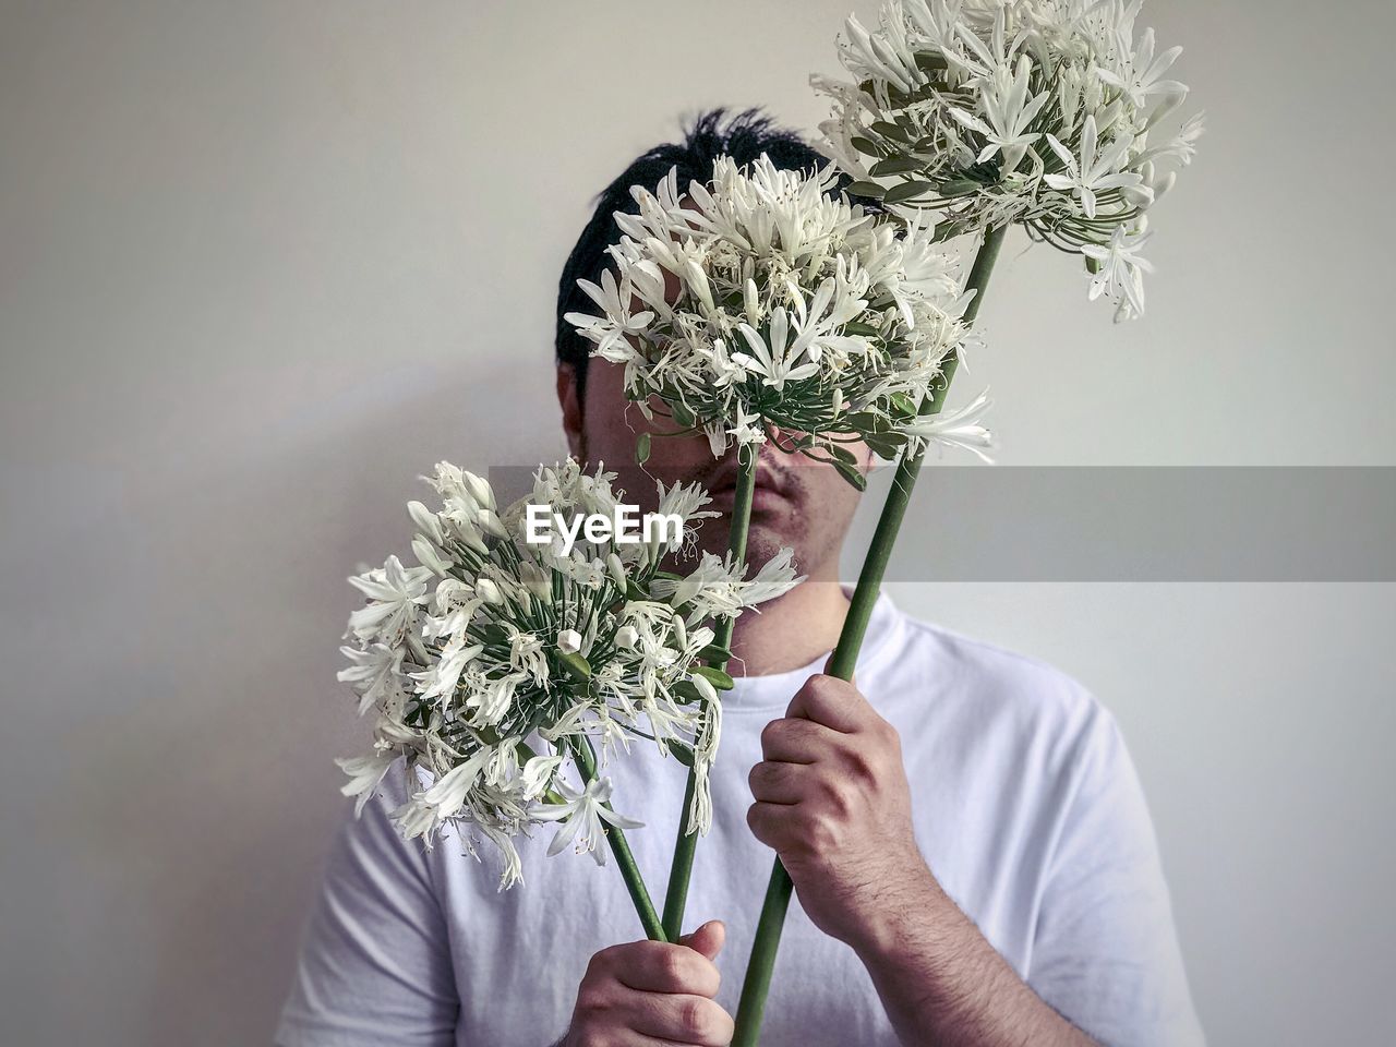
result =
[[[980,303],[984,300],[984,289],[988,286],[988,276],[998,258],[998,248],[1004,243],[1004,233],[1008,226],[1000,226],[984,233],[984,240],[974,255],[974,265],[970,268],[966,289],[973,289],[974,297],[965,309],[965,322],[974,322],[979,315]],[[945,394],[949,391],[955,369],[959,366],[959,356],[951,353],[941,369],[941,376],[931,387],[921,402],[920,413],[935,415],[945,403]],[[921,470],[924,451],[913,458],[905,456],[896,466],[896,477],[892,490],[888,491],[886,503],[882,505],[882,515],[878,517],[877,530],[872,535],[872,544],[863,560],[863,571],[859,574],[859,585],[853,592],[849,606],[849,616],[843,621],[843,631],[839,634],[839,645],[833,649],[829,663],[829,676],[840,680],[852,680],[853,669],[859,662],[859,649],[863,646],[863,637],[867,632],[868,621],[872,617],[872,606],[877,603],[882,589],[882,575],[886,572],[888,560],[892,557],[892,546],[896,533],[906,515],[906,507],[912,501],[912,489]],[[741,984],[741,1000],[737,1004],[736,1033],[732,1047],[755,1047],[761,1036],[761,1016],[766,1007],[766,995],[771,991],[771,974],[775,970],[776,951],[780,948],[780,931],[785,927],[786,910],[790,907],[790,895],[794,885],[790,874],[786,872],[780,859],[775,860],[771,870],[771,881],[766,884],[766,896],[761,905],[761,919],[757,923],[757,937],[751,945],[751,959],[747,962],[747,977]]]

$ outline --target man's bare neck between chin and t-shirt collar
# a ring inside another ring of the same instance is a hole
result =
[[[824,574],[824,572],[821,572]],[[733,676],[769,676],[810,664],[839,642],[849,597],[838,575],[808,578],[785,596],[745,611],[732,637]]]

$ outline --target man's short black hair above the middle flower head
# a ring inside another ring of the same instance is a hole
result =
[[[610,265],[606,248],[620,240],[614,212],[624,211],[631,215],[639,212],[639,205],[630,194],[631,186],[644,186],[653,191],[670,168],[678,169],[680,190],[694,180],[706,183],[712,179],[712,165],[719,156],[732,156],[743,165],[766,154],[782,170],[807,173],[814,173],[829,162],[828,156],[807,144],[797,131],[775,124],[758,107],[737,113],[723,123],[726,116],[725,106],[701,113],[684,130],[683,141],[646,149],[596,195],[596,209],[567,257],[563,278],[557,285],[557,362],[574,367],[579,396],[586,389],[586,362],[592,343],[577,334],[563,317],[567,313],[595,310],[596,303],[577,286],[577,281],[599,282],[602,272]],[[847,183],[847,176],[840,174],[833,190],[842,190]],[[872,201],[853,200],[866,207],[871,205],[870,209],[878,209]]]

